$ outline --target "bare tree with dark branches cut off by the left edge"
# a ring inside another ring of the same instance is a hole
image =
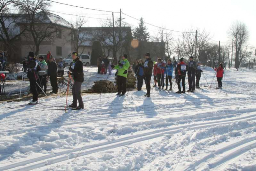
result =
[[[19,29],[19,22],[24,20],[24,15],[9,14],[10,5],[14,5],[15,0],[0,0],[0,39],[1,47],[6,51],[6,55],[11,62],[16,62],[16,43],[19,41],[20,35],[26,30]]]

